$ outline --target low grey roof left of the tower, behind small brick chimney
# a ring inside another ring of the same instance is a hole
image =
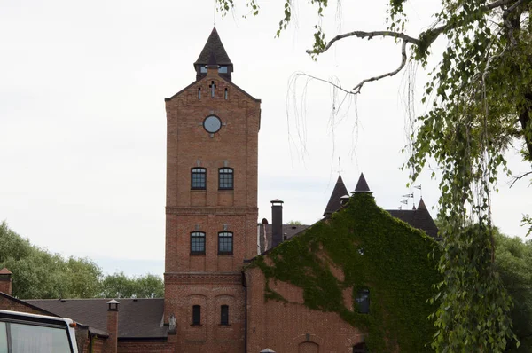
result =
[[[118,338],[165,338],[168,327],[161,326],[164,299],[119,299]],[[25,302],[60,317],[107,330],[107,302],[109,298],[98,299],[29,299]]]

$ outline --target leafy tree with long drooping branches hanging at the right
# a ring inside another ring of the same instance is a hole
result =
[[[258,0],[244,1],[251,13],[258,14]],[[233,2],[217,0],[222,12],[230,11]],[[411,117],[416,130],[405,166],[412,181],[429,160],[442,170],[443,280],[438,286],[441,306],[434,314],[438,332],[433,348],[503,351],[515,336],[509,317],[512,301],[495,266],[490,192],[500,169],[510,175],[504,156],[510,145],[521,144],[523,161],[532,162],[532,0],[441,0],[433,25],[418,35],[405,33],[406,0],[390,0],[387,28],[353,30],[328,42],[321,18],[329,1],[308,3],[318,15],[314,45],[307,51],[313,59],[350,36],[389,37],[401,46],[401,64],[395,70],[368,77],[352,90],[331,83],[346,94],[359,94],[364,84],[396,75],[409,58],[426,67],[436,39],[447,40],[422,98],[428,113]],[[293,18],[294,1],[281,4],[278,35]],[[468,227],[471,223],[478,226]],[[523,223],[532,229],[529,216]]]

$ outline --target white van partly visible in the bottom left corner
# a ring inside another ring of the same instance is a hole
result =
[[[0,310],[0,353],[78,353],[75,322]]]

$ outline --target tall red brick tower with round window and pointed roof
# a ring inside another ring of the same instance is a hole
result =
[[[165,323],[178,352],[244,352],[243,261],[257,255],[261,101],[231,82],[216,29],[196,81],[165,98]],[[173,325],[170,325],[172,328]]]

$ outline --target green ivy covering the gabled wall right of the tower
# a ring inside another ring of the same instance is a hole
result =
[[[265,300],[288,302],[270,283],[290,283],[302,289],[309,309],[336,312],[366,333],[372,352],[417,353],[431,350],[434,326],[428,316],[434,306],[427,300],[440,281],[438,252],[434,239],[377,207],[371,193],[355,193],[328,221],[249,266],[266,278]],[[368,314],[357,310],[362,289],[370,291]],[[346,304],[346,292],[353,305]]]

